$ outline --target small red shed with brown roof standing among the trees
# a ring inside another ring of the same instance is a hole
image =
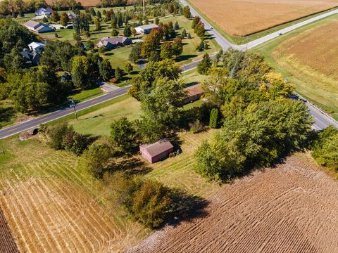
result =
[[[174,146],[170,141],[162,140],[152,144],[144,144],[139,146],[142,156],[150,163],[158,162],[165,159],[173,153]]]

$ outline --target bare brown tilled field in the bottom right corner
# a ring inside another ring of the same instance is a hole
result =
[[[238,179],[206,216],[166,226],[129,252],[337,252],[338,182],[308,154]]]

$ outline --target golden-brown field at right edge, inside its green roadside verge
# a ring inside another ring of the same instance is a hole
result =
[[[272,53],[285,70],[306,82],[307,96],[338,111],[338,19],[285,41]]]

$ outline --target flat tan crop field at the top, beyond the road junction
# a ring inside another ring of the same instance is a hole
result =
[[[225,32],[246,36],[338,6],[335,0],[189,0]]]

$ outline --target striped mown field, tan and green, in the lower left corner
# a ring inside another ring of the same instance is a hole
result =
[[[1,142],[0,208],[20,252],[120,252],[144,238],[77,157],[34,140]]]

